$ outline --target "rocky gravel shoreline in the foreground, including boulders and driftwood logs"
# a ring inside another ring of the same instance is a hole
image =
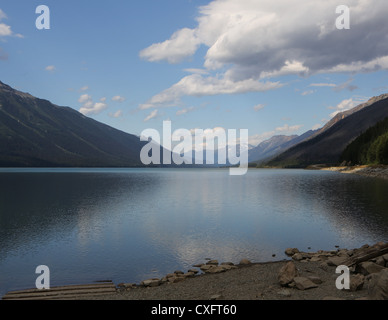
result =
[[[9,292],[2,299],[388,300],[388,243],[316,252],[288,248],[285,254],[289,259],[260,263],[243,259],[237,265],[208,260],[186,272],[178,270],[161,279],[148,279],[139,284],[104,283],[100,288],[89,290],[81,290],[80,286],[51,288],[43,292],[25,290]],[[340,276],[336,269],[340,265],[349,268],[349,289],[336,287]]]

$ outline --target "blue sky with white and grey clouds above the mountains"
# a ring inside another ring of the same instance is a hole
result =
[[[257,145],[388,92],[387,14],[386,0],[2,0],[0,81],[131,134],[169,120]]]

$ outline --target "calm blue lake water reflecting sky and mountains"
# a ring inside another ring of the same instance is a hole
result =
[[[387,181],[324,171],[2,169],[0,295],[33,288],[39,265],[51,286],[139,283],[206,258],[387,241],[387,195]]]

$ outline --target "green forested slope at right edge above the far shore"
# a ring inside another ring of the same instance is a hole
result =
[[[350,145],[341,161],[352,164],[388,164],[388,117],[369,128]]]

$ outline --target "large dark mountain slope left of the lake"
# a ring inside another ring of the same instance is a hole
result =
[[[0,82],[0,167],[142,166],[145,144]]]

